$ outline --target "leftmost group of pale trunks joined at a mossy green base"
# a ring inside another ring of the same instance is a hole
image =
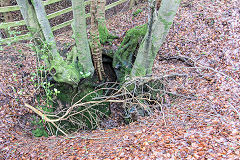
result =
[[[38,51],[44,51],[42,58],[44,59],[44,62],[47,65],[54,80],[57,82],[68,83],[72,86],[77,86],[80,79],[91,75],[93,72],[93,67],[91,66],[91,55],[86,39],[86,23],[85,21],[82,22],[83,17],[85,20],[85,12],[82,12],[81,8],[84,6],[83,0],[73,0],[73,10],[75,14],[74,16],[77,17],[75,19],[74,26],[78,27],[80,25],[82,27],[83,25],[83,27],[80,28],[81,31],[79,31],[79,28],[75,30],[75,37],[78,39],[76,42],[78,48],[75,47],[72,52],[69,53],[67,61],[63,60],[63,57],[60,56],[57,50],[54,35],[51,31],[51,27],[47,19],[47,14],[45,12],[42,1],[17,0],[17,2],[20,6],[21,13],[29,31],[32,33],[32,35],[40,33],[35,39],[37,42],[36,44]],[[79,32],[81,32],[81,34],[79,34]],[[79,50],[82,50],[82,45],[86,52],[79,52]]]

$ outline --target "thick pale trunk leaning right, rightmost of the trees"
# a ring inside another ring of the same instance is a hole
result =
[[[138,50],[131,72],[132,77],[152,74],[152,66],[156,54],[164,42],[173,23],[180,1],[181,0],[162,0],[156,21],[154,18],[155,7],[152,3],[148,32]]]

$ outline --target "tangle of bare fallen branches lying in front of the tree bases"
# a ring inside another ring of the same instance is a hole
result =
[[[129,122],[137,120],[139,116],[151,115],[154,110],[162,111],[162,105],[167,103],[166,95],[191,98],[167,90],[167,79],[176,77],[186,77],[186,75],[171,74],[160,77],[127,78],[119,88],[116,87],[119,86],[118,84],[113,84],[111,87],[104,87],[109,84],[102,84],[70,107],[64,108],[59,104],[61,110],[53,113],[44,112],[29,104],[25,104],[25,106],[49,124],[48,129],[51,134],[61,132],[68,135],[72,131],[80,129],[101,128],[101,120],[109,118],[107,112],[103,111],[101,107],[106,108],[106,106],[111,107],[111,104],[117,104],[118,109],[123,113],[122,118]],[[111,110],[111,112],[114,111]]]

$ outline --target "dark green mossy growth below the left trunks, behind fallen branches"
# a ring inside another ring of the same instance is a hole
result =
[[[94,78],[93,78],[94,79]],[[54,115],[55,117],[63,116],[67,110],[74,104],[79,104],[79,106],[74,107],[74,109],[67,115],[70,118],[57,121],[55,124],[65,133],[72,133],[78,130],[92,130],[99,126],[99,123],[103,118],[110,115],[109,103],[103,102],[98,105],[94,103],[96,97],[103,96],[104,90],[96,90],[96,81],[93,79],[85,79],[78,88],[73,88],[71,85],[64,83],[55,83],[51,85],[49,90],[57,90],[58,94],[54,95],[51,100],[48,100],[48,104],[39,107],[41,112],[47,115]],[[38,100],[47,99],[47,96],[38,96]],[[88,103],[81,105],[83,103]],[[90,103],[91,102],[91,103]],[[51,106],[51,107],[47,107]],[[72,116],[72,114],[74,114]],[[50,119],[56,119],[48,116]],[[35,137],[41,137],[48,135],[63,135],[51,123],[46,123],[44,121],[34,121],[32,122],[37,129],[32,130],[32,134]]]

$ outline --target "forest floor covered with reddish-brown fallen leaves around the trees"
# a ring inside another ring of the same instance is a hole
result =
[[[0,159],[239,159],[240,1],[183,0],[154,64],[154,75],[186,74],[169,80],[161,112],[113,129],[72,137],[35,138],[18,118],[34,105],[31,72],[35,55],[25,44],[0,52]],[[141,7],[138,6],[138,7]],[[146,9],[108,20],[111,32],[146,22]],[[69,40],[71,33],[57,36]],[[117,42],[116,42],[117,43]],[[176,58],[178,57],[178,58]],[[179,58],[179,57],[188,57]],[[27,125],[27,124],[25,124]]]

